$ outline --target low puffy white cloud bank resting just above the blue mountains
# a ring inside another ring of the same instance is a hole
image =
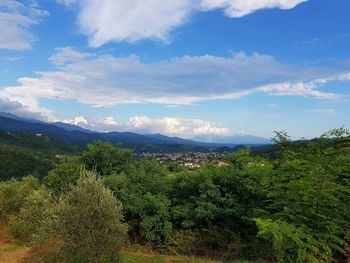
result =
[[[227,128],[220,127],[212,122],[192,118],[134,116],[126,123],[120,124],[113,117],[97,119],[78,116],[64,122],[96,131],[131,131],[141,134],[161,133],[184,138],[191,138],[198,135],[230,134],[230,130]]]

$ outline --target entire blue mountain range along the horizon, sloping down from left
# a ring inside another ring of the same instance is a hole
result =
[[[177,144],[200,147],[235,147],[237,145],[263,145],[269,140],[250,135],[197,137],[194,140],[169,137],[162,134],[137,134],[132,132],[95,132],[63,122],[43,122],[26,119],[10,113],[0,112],[0,129],[4,131],[31,132],[46,134],[66,143],[86,144],[94,141],[106,141],[122,145]]]

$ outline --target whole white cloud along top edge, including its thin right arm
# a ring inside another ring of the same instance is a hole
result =
[[[241,17],[259,9],[291,9],[306,0],[57,0],[78,6],[78,25],[93,47],[114,41],[168,41],[175,28],[200,11],[222,9]]]

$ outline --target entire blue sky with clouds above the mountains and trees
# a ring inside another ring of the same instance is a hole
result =
[[[183,138],[350,126],[349,0],[0,0],[0,112]]]

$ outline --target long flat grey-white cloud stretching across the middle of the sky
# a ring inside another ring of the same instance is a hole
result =
[[[324,85],[321,82],[334,79],[334,71],[283,65],[266,55],[185,56],[148,64],[136,56],[77,53],[76,57],[79,59],[69,59],[72,62],[68,64],[64,62],[65,56],[63,60],[51,58],[61,65],[58,70],[39,72],[38,77],[22,77],[18,86],[5,87],[3,92],[21,103],[25,100],[33,103],[37,98],[73,99],[97,107],[121,103],[180,105],[237,99],[255,93],[339,97],[319,90]],[[33,107],[37,109],[38,105],[34,103]]]

